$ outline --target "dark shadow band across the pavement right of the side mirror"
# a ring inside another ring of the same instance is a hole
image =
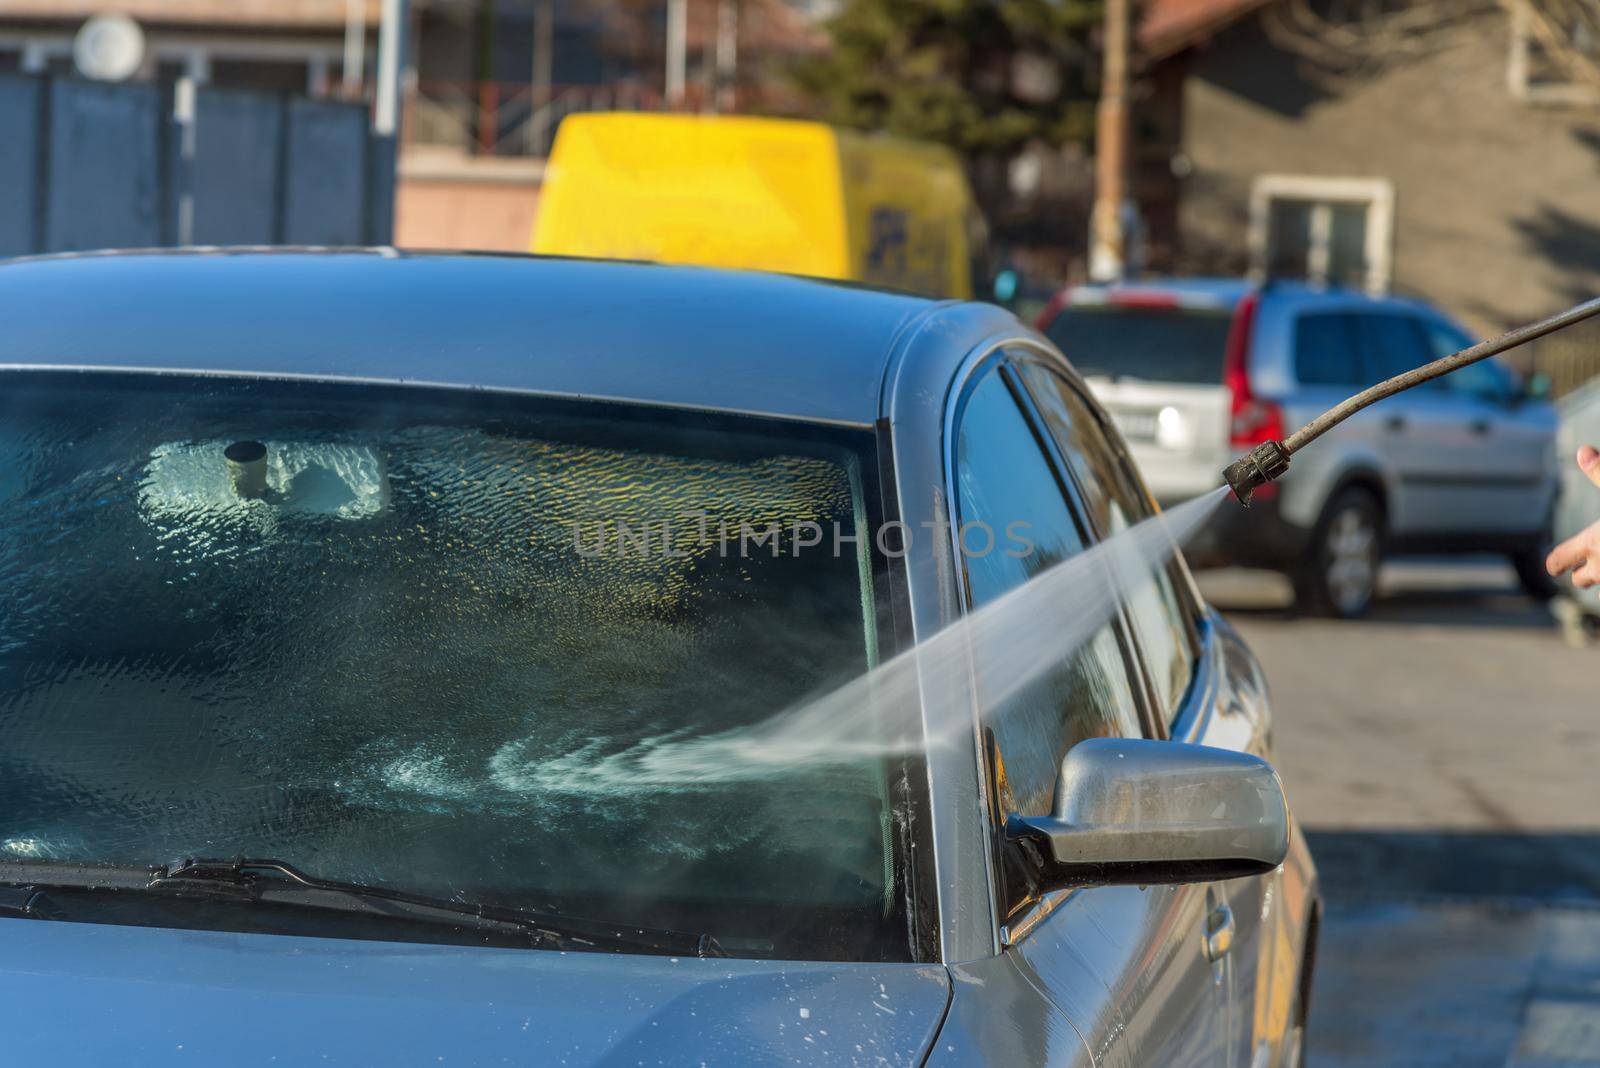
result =
[[[1307,830],[1323,895],[1600,907],[1600,833]]]

